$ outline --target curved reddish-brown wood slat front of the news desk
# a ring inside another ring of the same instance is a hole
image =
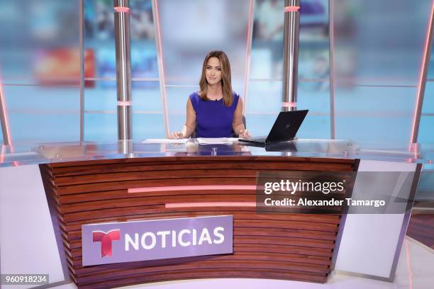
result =
[[[69,272],[79,288],[231,277],[323,283],[330,271],[340,214],[258,214],[252,207],[218,205],[165,208],[171,203],[252,203],[255,190],[127,190],[255,186],[259,171],[353,171],[354,167],[353,159],[251,156],[108,159],[40,166],[45,190],[54,200]],[[82,267],[84,224],[208,215],[233,215],[233,254]]]

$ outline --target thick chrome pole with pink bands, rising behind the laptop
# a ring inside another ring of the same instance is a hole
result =
[[[285,0],[282,111],[296,111],[299,71],[300,0]]]

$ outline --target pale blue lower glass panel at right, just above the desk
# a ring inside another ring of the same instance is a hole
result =
[[[363,87],[335,94],[336,138],[408,145],[416,88]]]

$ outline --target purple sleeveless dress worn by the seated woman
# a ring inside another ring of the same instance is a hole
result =
[[[232,137],[233,113],[240,96],[233,92],[232,106],[220,101],[204,101],[197,92],[189,98],[196,112],[196,137]]]

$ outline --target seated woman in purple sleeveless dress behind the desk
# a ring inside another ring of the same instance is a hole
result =
[[[187,100],[187,121],[181,132],[173,132],[169,138],[190,137],[250,137],[243,125],[243,101],[232,91],[230,64],[223,51],[211,51],[206,55],[199,91]]]

